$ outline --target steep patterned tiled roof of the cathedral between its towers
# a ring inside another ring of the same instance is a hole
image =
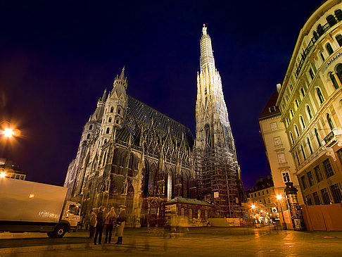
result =
[[[153,123],[153,129],[156,134],[161,137],[165,137],[170,127],[170,134],[176,139],[182,139],[189,144],[194,145],[194,137],[189,129],[173,120],[167,115],[156,111],[156,109],[142,103],[141,101],[134,99],[132,96],[127,96],[127,115],[125,121],[125,127],[119,130],[116,137],[122,141],[127,142],[129,134],[132,137],[132,143],[139,144],[141,127],[144,131],[148,130]]]

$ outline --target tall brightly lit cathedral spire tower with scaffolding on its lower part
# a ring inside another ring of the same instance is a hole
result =
[[[241,177],[236,159],[222,81],[207,27],[201,37],[201,70],[197,74],[196,165],[200,194],[222,217],[241,215]]]

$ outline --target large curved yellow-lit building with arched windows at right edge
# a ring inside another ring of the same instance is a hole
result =
[[[281,122],[308,205],[342,201],[342,4],[324,1],[300,30],[281,87]]]

